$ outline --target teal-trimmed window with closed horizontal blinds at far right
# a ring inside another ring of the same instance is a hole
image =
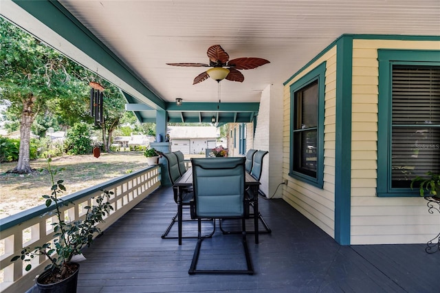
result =
[[[411,180],[440,171],[440,63],[429,53],[379,52],[378,196],[419,196]]]

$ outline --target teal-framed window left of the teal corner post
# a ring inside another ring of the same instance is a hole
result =
[[[290,175],[323,185],[325,63],[291,85]]]

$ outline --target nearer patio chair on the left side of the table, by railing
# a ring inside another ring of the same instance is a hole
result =
[[[179,171],[179,160],[175,153],[161,153],[162,158],[165,158],[166,164],[167,164],[167,170],[168,170],[168,176],[170,177],[171,184],[175,184],[177,180],[181,177],[180,171]],[[183,155],[183,154],[182,154]],[[177,199],[177,187],[173,186],[173,195],[174,195],[174,202],[178,204]],[[190,206],[190,200],[194,194],[192,193],[192,188],[186,188],[181,190],[181,207],[180,208],[189,208]],[[183,213],[182,213],[183,215]],[[170,224],[166,228],[164,234],[162,234],[162,239],[178,239],[178,236],[168,236],[170,230],[173,228],[174,224],[179,221],[179,206],[177,206],[177,213],[173,216],[173,218],[170,221]],[[190,219],[190,217],[181,218],[181,222],[183,221],[194,221],[193,219]],[[181,226],[181,225],[179,225]],[[206,235],[206,237],[210,237],[214,234],[212,232],[210,235]],[[185,236],[181,238],[197,238],[197,236]]]

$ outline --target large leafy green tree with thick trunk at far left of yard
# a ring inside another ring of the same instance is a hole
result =
[[[78,65],[0,17],[1,102],[20,117],[20,149],[12,172],[30,173],[30,129],[39,113],[47,113],[56,99],[77,96],[69,71]]]

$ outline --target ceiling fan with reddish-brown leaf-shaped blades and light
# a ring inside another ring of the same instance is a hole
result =
[[[227,80],[238,81],[243,83],[245,77],[239,70],[237,69],[254,69],[261,65],[265,65],[270,63],[266,59],[263,58],[254,58],[254,57],[243,57],[229,60],[228,53],[223,50],[220,45],[212,45],[208,48],[209,64],[205,63],[166,63],[167,65],[173,66],[181,66],[181,67],[212,67],[206,72],[202,72],[196,78],[194,78],[195,85],[196,83],[201,83],[203,80],[208,79],[209,77],[217,80],[223,80],[226,78]]]

